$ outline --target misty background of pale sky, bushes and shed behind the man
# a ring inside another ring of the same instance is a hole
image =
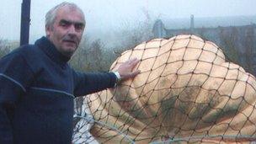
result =
[[[62,0],[31,0],[29,43],[45,35],[45,13]],[[108,71],[121,52],[153,34],[156,21],[163,23],[164,37],[180,33],[196,34],[226,48],[227,56],[256,73],[256,57],[244,55],[256,49],[255,0],[67,0],[82,8],[86,17],[83,40],[72,67],[79,71]],[[2,0],[0,4],[0,57],[19,46],[22,0]],[[195,33],[188,31],[194,15]],[[248,28],[253,34],[248,37]],[[222,27],[224,27],[222,29]],[[229,29],[228,27],[232,27]],[[242,27],[242,28],[241,28]],[[209,32],[210,30],[210,32]],[[225,33],[223,33],[223,30]],[[235,37],[232,37],[235,36]],[[250,38],[250,39],[249,39]],[[252,41],[251,43],[245,41]],[[237,48],[238,46],[238,48]],[[247,50],[246,48],[250,49]],[[256,52],[256,51],[255,51]],[[243,56],[242,56],[243,55]],[[239,59],[239,57],[244,57]],[[248,63],[248,64],[246,64]]]

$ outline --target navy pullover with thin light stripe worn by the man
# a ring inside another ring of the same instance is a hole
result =
[[[73,99],[115,86],[113,72],[80,73],[46,37],[0,60],[0,143],[72,139]]]

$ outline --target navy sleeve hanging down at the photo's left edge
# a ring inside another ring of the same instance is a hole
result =
[[[15,105],[26,92],[32,72],[19,52],[0,59],[0,143],[13,143],[12,119]]]

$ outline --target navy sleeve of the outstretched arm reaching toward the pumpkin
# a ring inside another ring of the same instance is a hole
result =
[[[88,93],[96,93],[105,88],[113,88],[116,83],[114,72],[74,72],[74,95],[83,96]]]

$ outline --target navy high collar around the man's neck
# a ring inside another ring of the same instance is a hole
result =
[[[64,56],[60,51],[57,51],[56,46],[53,45],[45,36],[41,37],[39,40],[36,40],[35,45],[38,45],[38,47],[40,47],[40,49],[44,51],[52,61],[55,61],[60,65],[64,65],[70,60],[70,57]]]

